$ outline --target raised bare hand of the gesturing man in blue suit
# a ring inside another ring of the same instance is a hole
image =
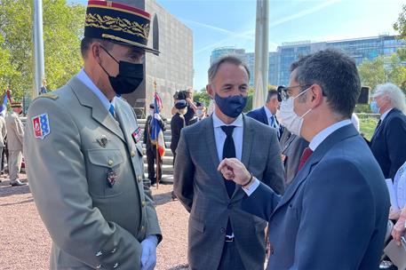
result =
[[[236,158],[225,158],[219,163],[217,169],[227,180],[235,181],[235,184],[246,185],[251,179],[251,173],[245,169],[243,163]]]

